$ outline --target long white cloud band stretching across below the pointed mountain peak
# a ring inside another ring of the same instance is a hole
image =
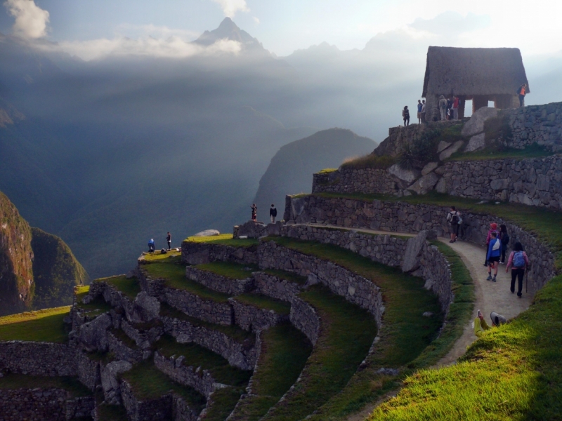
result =
[[[92,39],[90,41],[63,41],[57,46],[43,46],[42,48],[57,48],[70,55],[89,61],[107,57],[150,56],[159,58],[189,58],[195,55],[217,55],[240,53],[242,45],[237,41],[221,39],[210,46],[200,46],[181,39],[179,36],[169,36],[167,39],[157,39],[152,36],[131,39],[118,36],[113,39]]]

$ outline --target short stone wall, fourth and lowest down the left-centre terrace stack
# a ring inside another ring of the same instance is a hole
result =
[[[205,398],[209,398],[220,385],[216,385],[209,370],[197,371],[197,367],[183,365],[184,360],[183,356],[166,358],[158,352],[154,354],[154,364],[158,370],[181,385],[192,387]]]

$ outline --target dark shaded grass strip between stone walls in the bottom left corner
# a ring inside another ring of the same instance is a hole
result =
[[[90,396],[92,392],[81,384],[76,377],[43,377],[38,375],[24,375],[5,373],[0,377],[0,389],[64,389],[72,397]]]

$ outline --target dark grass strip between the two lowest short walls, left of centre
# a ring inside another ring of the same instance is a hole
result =
[[[245,387],[251,376],[251,371],[240,370],[240,368],[230,366],[226,359],[209,351],[209,349],[192,342],[180,344],[170,335],[162,336],[156,342],[155,347],[160,354],[167,358],[172,355],[185,356],[183,361],[185,366],[201,367],[204,370],[209,370],[214,380],[223,383],[223,385]]]

